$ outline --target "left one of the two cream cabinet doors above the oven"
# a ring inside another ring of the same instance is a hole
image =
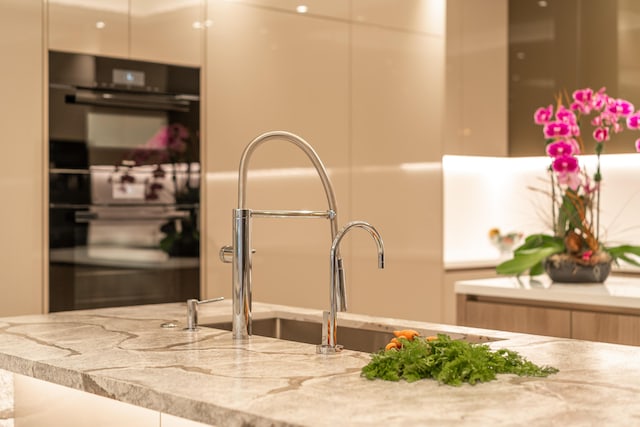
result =
[[[129,0],[49,0],[49,49],[126,58]]]

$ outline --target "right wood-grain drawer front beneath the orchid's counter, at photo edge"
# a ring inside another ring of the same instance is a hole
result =
[[[640,317],[574,311],[573,338],[614,344],[640,345]]]

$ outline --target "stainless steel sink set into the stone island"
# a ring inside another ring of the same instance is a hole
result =
[[[231,322],[206,323],[200,326],[223,329],[230,331]],[[254,335],[279,338],[282,340],[319,344],[322,337],[322,325],[320,322],[310,320],[286,319],[282,317],[269,317],[253,319],[252,329]],[[380,329],[366,329],[347,325],[338,325],[336,334],[338,344],[349,350],[374,353],[383,349],[393,338],[393,330],[398,328],[380,325]],[[482,335],[448,333],[446,331],[417,330],[422,336],[445,333],[454,340],[481,343],[497,341],[499,338],[491,338]]]

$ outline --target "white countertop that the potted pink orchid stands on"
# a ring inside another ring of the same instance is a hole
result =
[[[461,280],[455,292],[554,303],[640,309],[640,279],[609,276],[605,283],[553,283],[548,276]]]

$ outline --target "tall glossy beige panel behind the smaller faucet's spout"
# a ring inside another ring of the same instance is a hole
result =
[[[444,11],[438,0],[353,2],[352,213],[387,252],[378,271],[368,236],[351,237],[356,312],[442,317]]]

